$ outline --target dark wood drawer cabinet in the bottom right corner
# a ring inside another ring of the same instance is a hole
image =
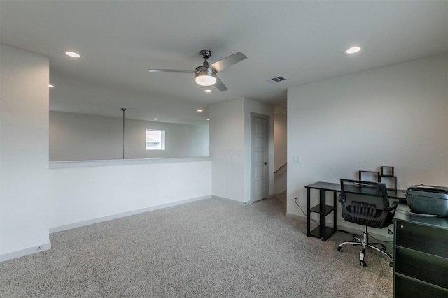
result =
[[[448,297],[448,218],[395,214],[393,297]]]

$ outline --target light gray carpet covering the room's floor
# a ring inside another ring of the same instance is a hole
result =
[[[207,199],[50,235],[0,263],[0,297],[391,297],[392,268],[348,234],[323,242],[285,217],[285,195]],[[387,244],[391,248],[391,244]]]

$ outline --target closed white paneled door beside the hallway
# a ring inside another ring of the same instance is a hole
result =
[[[268,163],[269,120],[251,117],[251,200],[258,201],[269,195]]]

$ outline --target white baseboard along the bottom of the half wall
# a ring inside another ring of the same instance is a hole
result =
[[[193,199],[183,200],[183,201],[169,203],[169,204],[162,204],[162,205],[148,207],[148,208],[144,208],[144,209],[127,211],[127,212],[123,212],[120,214],[114,214],[111,216],[104,216],[101,218],[94,218],[89,221],[80,221],[78,223],[71,223],[69,225],[61,225],[59,227],[50,228],[50,234],[55,233],[55,232],[62,232],[65,230],[71,230],[71,229],[75,229],[75,228],[84,227],[85,225],[92,225],[94,223],[103,223],[104,221],[112,221],[113,219],[118,219],[118,218],[122,218],[122,217],[126,217],[126,216],[132,216],[132,215],[136,215],[136,214],[141,214],[141,213],[154,211],[154,210],[158,210],[158,209],[164,209],[167,207],[173,207],[173,206],[186,204],[186,203],[190,203],[190,202],[195,202],[195,201],[200,201],[200,200],[209,199],[209,198],[211,198],[211,195],[206,195],[204,197],[193,198]]]

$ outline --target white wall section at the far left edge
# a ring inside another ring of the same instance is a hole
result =
[[[0,261],[50,248],[48,57],[0,45]]]

